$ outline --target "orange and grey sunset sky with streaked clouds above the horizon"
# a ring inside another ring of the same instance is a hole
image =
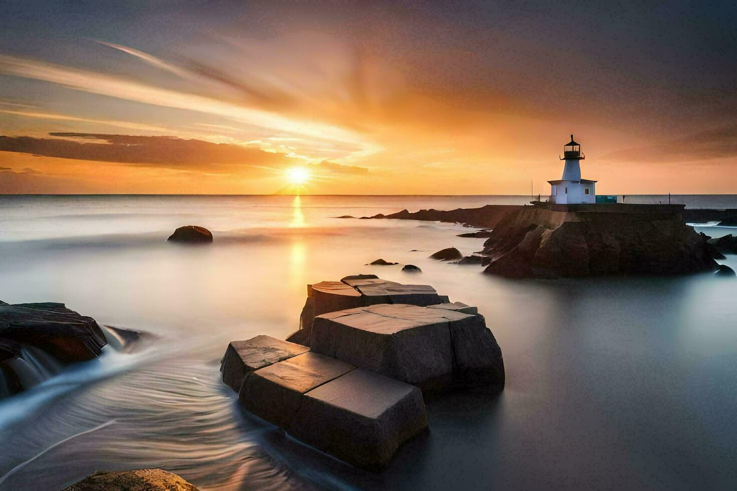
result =
[[[649,4],[645,6],[644,4]],[[737,7],[16,1],[0,193],[737,192]]]

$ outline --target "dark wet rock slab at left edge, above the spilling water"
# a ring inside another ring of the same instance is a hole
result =
[[[0,340],[38,347],[63,364],[91,360],[107,344],[95,319],[53,302],[0,305]]]

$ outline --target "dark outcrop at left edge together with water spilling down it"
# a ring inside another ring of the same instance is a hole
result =
[[[0,303],[0,398],[102,353],[105,334],[63,303]]]

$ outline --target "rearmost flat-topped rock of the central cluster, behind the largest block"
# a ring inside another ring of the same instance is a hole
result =
[[[327,312],[377,303],[433,305],[447,301],[448,297],[439,295],[432,286],[403,285],[382,280],[376,275],[353,275],[340,281],[321,281],[307,285],[307,300],[299,318],[299,330],[290,334],[287,341],[309,346],[315,316]]]

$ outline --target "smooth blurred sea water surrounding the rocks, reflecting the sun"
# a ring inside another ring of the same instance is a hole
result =
[[[737,208],[737,197],[689,199]],[[481,250],[483,239],[455,236],[459,225],[332,218],[526,201],[0,197],[0,300],[63,302],[156,335],[0,403],[0,489],[57,490],[138,467],[203,490],[733,488],[737,279],[505,280],[427,259],[443,247]],[[167,243],[181,225],[208,227],[214,243]],[[376,258],[423,274],[363,266]],[[737,267],[735,256],[720,262]],[[307,283],[359,272],[478,305],[507,373],[499,396],[428,402],[430,433],[380,474],[244,413],[218,371],[231,339],[294,331]]]

